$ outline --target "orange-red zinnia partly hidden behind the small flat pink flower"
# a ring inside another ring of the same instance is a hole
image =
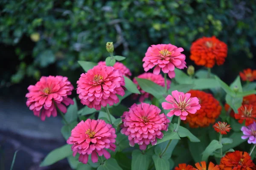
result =
[[[215,119],[221,114],[221,105],[212,94],[204,91],[191,90],[188,93],[191,97],[197,97],[201,105],[195,114],[186,116],[185,123],[189,123],[190,127],[207,127],[215,122]]]

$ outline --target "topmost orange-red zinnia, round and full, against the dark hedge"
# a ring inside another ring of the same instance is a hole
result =
[[[225,62],[227,45],[215,36],[202,37],[192,43],[190,53],[190,59],[196,65],[212,68],[215,62],[217,65],[222,65]]]

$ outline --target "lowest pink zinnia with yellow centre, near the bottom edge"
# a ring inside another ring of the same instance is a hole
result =
[[[105,149],[115,151],[116,130],[104,120],[82,120],[71,131],[67,144],[73,144],[73,156],[79,153],[79,162],[87,164],[88,156],[92,155],[93,163],[98,161],[98,156],[110,158],[110,153]],[[98,155],[97,155],[98,154]]]

